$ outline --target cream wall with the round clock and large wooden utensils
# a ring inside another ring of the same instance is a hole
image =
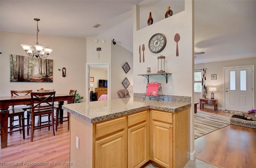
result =
[[[172,73],[168,77],[168,83],[162,75],[150,76],[149,82],[162,83],[164,95],[177,95],[192,97],[193,93],[193,69],[194,69],[194,1],[185,0],[185,10],[169,18],[154,22],[152,25],[139,29],[139,6],[134,6],[133,14],[133,67],[134,67],[134,93],[145,93],[147,80],[138,74],[145,74],[146,67],[151,67],[152,73],[158,71],[158,59],[160,55],[166,56],[165,71]],[[150,11],[148,11],[150,12]],[[151,53],[148,49],[148,41],[152,35],[162,33],[166,36],[166,47],[160,53]],[[178,42],[179,56],[176,56],[175,34],[180,34]],[[139,62],[139,45],[145,44],[145,62]],[[168,87],[173,87],[173,93],[168,93]],[[194,107],[190,109],[190,158],[194,155]]]

